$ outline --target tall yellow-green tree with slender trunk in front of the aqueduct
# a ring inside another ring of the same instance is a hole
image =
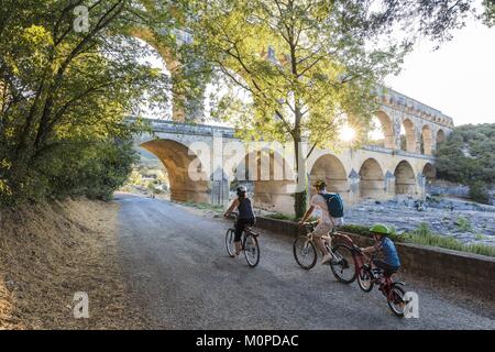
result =
[[[299,183],[316,146],[341,146],[344,124],[367,133],[375,85],[398,69],[409,47],[381,45],[388,23],[363,1],[217,0],[196,3],[194,13],[198,51],[231,88],[217,116],[246,140],[294,142]],[[295,195],[298,216],[305,199],[305,191]]]

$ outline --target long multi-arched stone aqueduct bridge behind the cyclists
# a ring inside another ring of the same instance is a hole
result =
[[[340,193],[348,204],[402,195],[424,198],[428,179],[436,177],[432,152],[451,132],[452,119],[392,90],[382,94],[376,117],[384,131],[383,147],[364,146],[337,154],[315,150],[307,162],[309,179],[326,179],[330,190]],[[400,150],[402,125],[406,151]],[[246,178],[253,180],[256,207],[294,212],[294,157],[283,152],[239,153],[232,145],[242,143],[229,128],[163,120],[152,120],[152,128],[153,135],[136,136],[135,143],[163,162],[173,200],[226,205],[231,183],[242,183],[242,177],[235,177],[245,168],[251,172]],[[191,169],[201,177],[191,179]]]

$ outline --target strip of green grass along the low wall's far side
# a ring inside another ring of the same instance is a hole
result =
[[[369,229],[363,226],[349,224],[342,227],[342,230],[369,238],[372,237],[372,233],[369,231]],[[495,246],[482,243],[464,244],[454,238],[433,233],[427,223],[421,223],[416,230],[403,234],[397,234],[394,231],[394,233],[391,235],[391,239],[394,242],[437,246],[459,252],[474,253],[495,257]]]

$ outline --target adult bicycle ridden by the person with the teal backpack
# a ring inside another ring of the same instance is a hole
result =
[[[315,267],[318,254],[317,246],[314,240],[314,232],[318,221],[306,222],[304,224],[306,229],[305,235],[298,235],[293,244],[294,257],[297,264],[309,271]],[[330,267],[333,276],[343,284],[352,284],[356,279],[356,265],[355,265],[355,245],[350,237],[338,232],[333,229],[329,234],[323,235],[322,240],[324,246],[331,252],[333,260],[330,262]],[[340,242],[333,246],[330,243]],[[352,264],[354,263],[354,265]]]

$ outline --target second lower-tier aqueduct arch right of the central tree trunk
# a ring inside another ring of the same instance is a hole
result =
[[[376,160],[369,158],[363,163],[360,168],[360,179],[361,199],[384,197],[385,175]]]

